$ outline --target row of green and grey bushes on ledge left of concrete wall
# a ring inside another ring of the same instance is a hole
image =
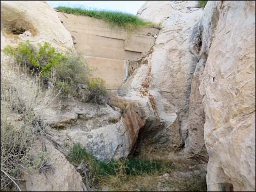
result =
[[[56,76],[56,88],[64,96],[71,95],[82,101],[102,104],[107,100],[107,90],[103,79],[92,78],[86,60],[74,51],[65,54],[45,42],[34,47],[29,41],[20,42],[17,48],[7,46],[3,53],[13,57],[17,63],[27,66],[32,74],[40,74],[48,86],[52,73]]]

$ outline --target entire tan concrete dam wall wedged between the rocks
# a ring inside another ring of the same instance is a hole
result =
[[[117,89],[128,76],[129,62],[146,54],[159,30],[143,27],[132,32],[92,17],[58,12],[72,35],[78,53],[96,68],[94,75],[106,80],[108,89]]]

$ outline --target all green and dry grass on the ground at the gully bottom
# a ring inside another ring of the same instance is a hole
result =
[[[205,191],[205,174],[193,175],[179,182],[164,180],[159,184],[163,174],[172,174],[174,164],[163,160],[124,158],[108,162],[98,160],[90,155],[80,144],[71,147],[68,155],[88,187],[107,188],[109,191],[155,191],[166,187],[181,191]]]

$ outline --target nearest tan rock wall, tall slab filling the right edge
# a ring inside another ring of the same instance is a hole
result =
[[[203,18],[215,27],[200,84],[208,190],[255,191],[255,1],[211,1]]]

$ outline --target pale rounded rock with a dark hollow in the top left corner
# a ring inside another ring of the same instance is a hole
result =
[[[29,40],[35,45],[47,41],[63,51],[73,47],[70,33],[45,1],[1,1],[1,32],[10,45]]]

